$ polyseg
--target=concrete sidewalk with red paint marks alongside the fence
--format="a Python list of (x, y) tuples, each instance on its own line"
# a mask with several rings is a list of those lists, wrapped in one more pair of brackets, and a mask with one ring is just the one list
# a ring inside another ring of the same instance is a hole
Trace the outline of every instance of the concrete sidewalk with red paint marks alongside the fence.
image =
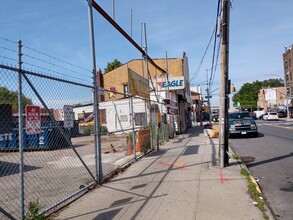
[(54, 219), (263, 219), (240, 166), (218, 166), (218, 139), (193, 127)]

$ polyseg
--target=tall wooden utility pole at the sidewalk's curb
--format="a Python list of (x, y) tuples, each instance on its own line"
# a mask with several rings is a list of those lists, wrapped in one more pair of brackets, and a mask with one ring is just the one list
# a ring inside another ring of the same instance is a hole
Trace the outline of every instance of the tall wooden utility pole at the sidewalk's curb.
[(221, 81), (220, 81), (220, 166), (229, 165), (228, 146), (228, 79), (229, 79), (229, 22), (230, 0), (222, 3), (222, 45), (221, 45)]

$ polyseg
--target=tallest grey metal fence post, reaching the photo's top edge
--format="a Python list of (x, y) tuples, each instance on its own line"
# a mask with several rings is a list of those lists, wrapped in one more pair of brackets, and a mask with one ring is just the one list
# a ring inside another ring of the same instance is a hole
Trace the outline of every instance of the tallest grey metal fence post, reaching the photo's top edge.
[(97, 71), (96, 71), (96, 55), (95, 55), (95, 40), (94, 40), (94, 25), (93, 25), (93, 10), (92, 0), (88, 0), (88, 16), (91, 42), (91, 57), (93, 69), (93, 99), (94, 99), (94, 123), (95, 123), (95, 149), (96, 149), (96, 173), (99, 184), (103, 183), (103, 169), (102, 169), (102, 154), (101, 154), (101, 138), (100, 138), (100, 115), (98, 103), (98, 85), (97, 85)]

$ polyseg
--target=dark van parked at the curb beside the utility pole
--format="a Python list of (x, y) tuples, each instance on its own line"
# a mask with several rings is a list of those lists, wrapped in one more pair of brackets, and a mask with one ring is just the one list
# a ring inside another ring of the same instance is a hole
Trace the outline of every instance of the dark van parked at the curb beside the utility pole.
[(249, 112), (229, 113), (229, 136), (233, 135), (258, 136), (256, 122), (252, 119)]

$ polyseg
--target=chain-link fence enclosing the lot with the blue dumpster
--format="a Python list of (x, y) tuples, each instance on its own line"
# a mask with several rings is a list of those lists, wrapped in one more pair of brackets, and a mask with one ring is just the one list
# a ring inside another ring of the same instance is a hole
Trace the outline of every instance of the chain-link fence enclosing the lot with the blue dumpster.
[(19, 55), (0, 65), (0, 218), (47, 214), (169, 139), (165, 105), (130, 93), (99, 103), (97, 132), (91, 83), (28, 71), (21, 58), (35, 57)]

